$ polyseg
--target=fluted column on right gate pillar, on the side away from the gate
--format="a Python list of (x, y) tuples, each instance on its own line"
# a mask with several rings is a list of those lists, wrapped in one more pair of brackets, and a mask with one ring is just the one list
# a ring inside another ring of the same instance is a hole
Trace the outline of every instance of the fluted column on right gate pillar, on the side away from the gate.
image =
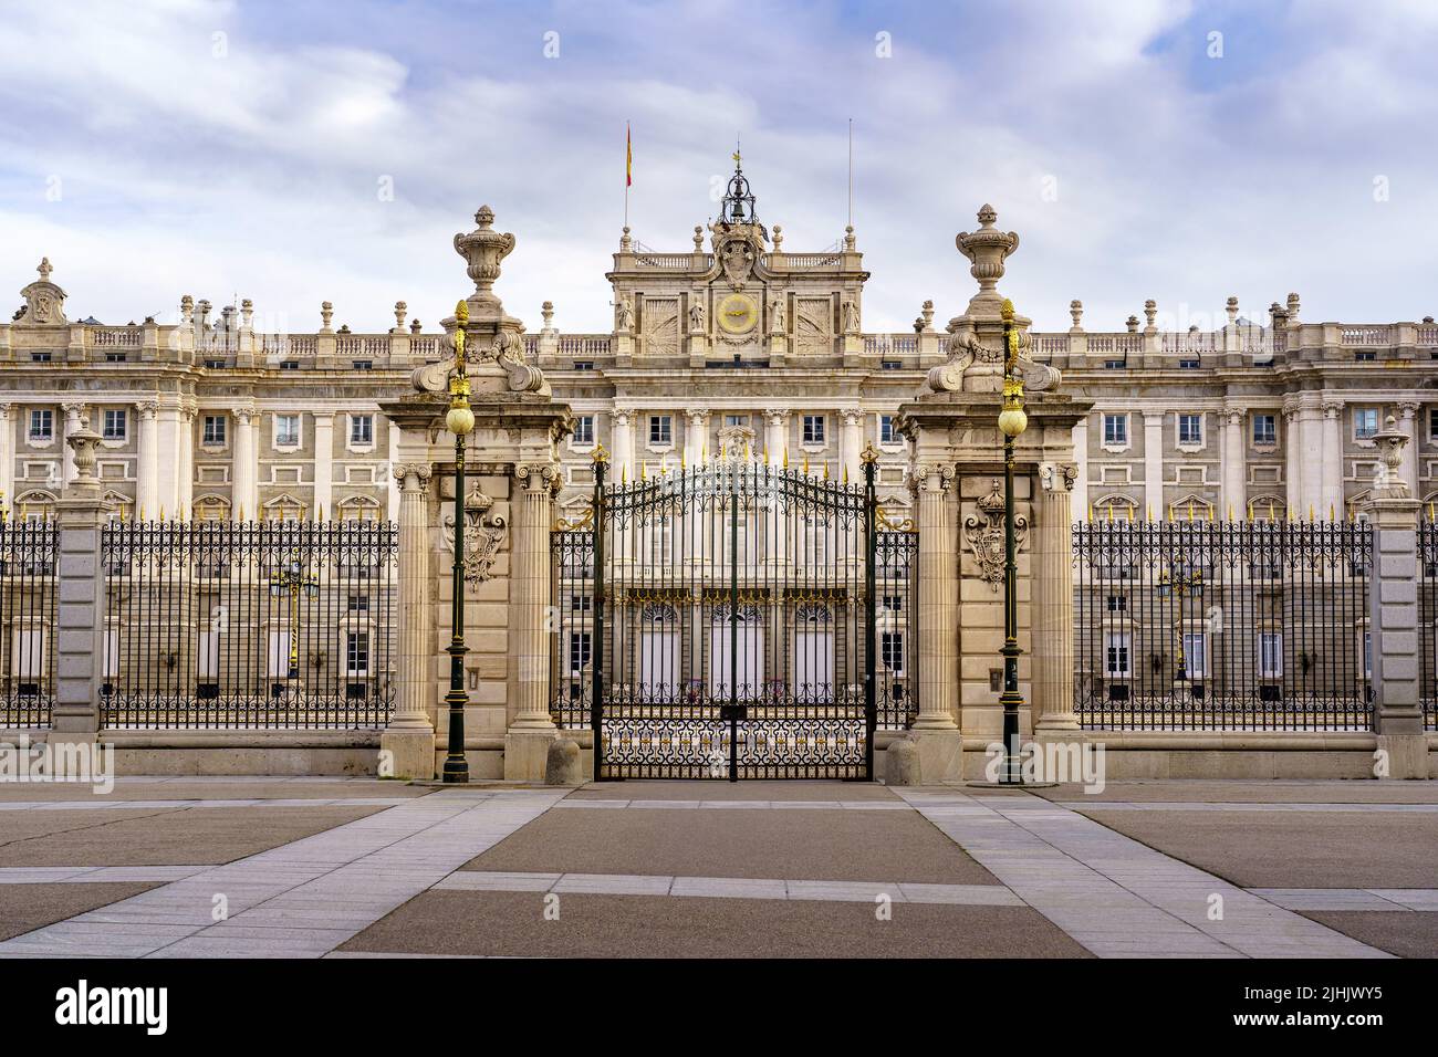
[(1077, 731), (1074, 715), (1074, 572), (1070, 489), (1078, 467), (1038, 465), (1032, 526), (1034, 731)]

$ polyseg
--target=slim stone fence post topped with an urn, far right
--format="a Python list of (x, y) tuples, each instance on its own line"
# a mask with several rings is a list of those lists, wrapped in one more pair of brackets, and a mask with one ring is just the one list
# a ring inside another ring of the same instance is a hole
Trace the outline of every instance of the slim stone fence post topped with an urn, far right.
[(1428, 739), (1418, 670), (1419, 502), (1399, 476), (1408, 437), (1392, 416), (1375, 441), (1383, 456), (1368, 503), (1373, 526), (1368, 628), (1373, 731), (1380, 754), (1376, 777), (1426, 778)]

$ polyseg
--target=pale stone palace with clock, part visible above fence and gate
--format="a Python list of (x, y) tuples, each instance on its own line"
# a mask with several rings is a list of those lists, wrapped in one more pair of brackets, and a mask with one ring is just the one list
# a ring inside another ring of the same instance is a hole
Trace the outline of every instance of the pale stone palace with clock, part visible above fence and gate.
[[(853, 227), (827, 250), (791, 252), (779, 224), (759, 221), (742, 171), (722, 209), (722, 220), (758, 226), (765, 252), (703, 224), (687, 250), (654, 252), (626, 229), (605, 275), (613, 331), (567, 334), (545, 302), (525, 335), (575, 414), (561, 515), (587, 503), (597, 444), (613, 480), (742, 447), (850, 482), (873, 444), (880, 499), (902, 516), (909, 454), (894, 411), (949, 358), (935, 302), (922, 302), (910, 332), (869, 332), (870, 273)], [(994, 210), (979, 221), (994, 230)], [(52, 263), (37, 270), (0, 324), (0, 493), (12, 516), (46, 516), (75, 473), (66, 436), (88, 418), (121, 518), (397, 518), (398, 437), (378, 404), (443, 354), (406, 302), (384, 334), (336, 328), (329, 302), (315, 332), (263, 334), (250, 301), (216, 309), (190, 295), (174, 322), (101, 322), (70, 319)], [(741, 273), (735, 289), (728, 276)], [(431, 290), (426, 303), (437, 311), (452, 295)], [(1350, 516), (1388, 416), (1409, 436), (1409, 493), (1425, 511), (1438, 498), (1432, 316), (1309, 322), (1297, 293), (1265, 324), (1229, 298), (1215, 331), (1159, 331), (1153, 301), (1117, 331), (1087, 329), (1078, 301), (1070, 314), (1068, 331), (1031, 339), (1067, 393), (1094, 401), (1074, 430), (1076, 518)]]

